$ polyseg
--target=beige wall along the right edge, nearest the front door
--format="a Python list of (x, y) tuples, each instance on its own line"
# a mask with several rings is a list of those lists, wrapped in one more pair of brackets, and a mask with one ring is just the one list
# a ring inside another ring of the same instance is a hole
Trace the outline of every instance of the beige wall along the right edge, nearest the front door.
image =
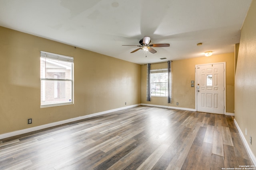
[[(235, 77), (235, 119), (256, 155), (256, 0), (241, 30)], [(247, 135), (245, 135), (247, 129)], [(249, 142), (252, 136), (252, 145)]]

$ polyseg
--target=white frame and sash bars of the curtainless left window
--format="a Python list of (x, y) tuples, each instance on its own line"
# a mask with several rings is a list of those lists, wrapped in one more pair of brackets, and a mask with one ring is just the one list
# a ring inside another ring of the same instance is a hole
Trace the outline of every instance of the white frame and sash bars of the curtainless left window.
[[(46, 78), (46, 69), (47, 69), (47, 67), (46, 67), (46, 60), (47, 59), (48, 59), (48, 61), (50, 59), (50, 60), (64, 61), (64, 62), (71, 63), (70, 64), (70, 67), (71, 67), (70, 68), (70, 70), (71, 70), (71, 74), (70, 74), (71, 77), (70, 77), (70, 79)], [(44, 62), (45, 62), (45, 66), (44, 67), (42, 67), (42, 65), (41, 65), (41, 60), (44, 60)], [(40, 108), (74, 104), (74, 58), (73, 57), (64, 56), (64, 55), (49, 53), (49, 52), (45, 52), (45, 51), (40, 51), (40, 71), (41, 71), (42, 68), (45, 69), (45, 71), (44, 71), (45, 73), (44, 73), (44, 78), (41, 77), (42, 75), (40, 73)], [(70, 100), (71, 101), (70, 102), (63, 101), (63, 102), (56, 103), (56, 104), (43, 104), (42, 105), (42, 102), (43, 102), (43, 100), (42, 100), (42, 81), (44, 81), (44, 80), (45, 81), (57, 81), (57, 82), (58, 81), (70, 82), (70, 84), (71, 84), (71, 88), (70, 88), (71, 99)]]

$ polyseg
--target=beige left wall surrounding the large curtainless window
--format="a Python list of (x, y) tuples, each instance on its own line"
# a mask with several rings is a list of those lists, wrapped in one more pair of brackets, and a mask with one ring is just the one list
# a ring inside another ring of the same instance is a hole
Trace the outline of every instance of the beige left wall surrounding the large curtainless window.
[[(0, 37), (0, 134), (141, 103), (139, 64), (4, 27)], [(40, 108), (40, 51), (74, 57), (74, 104)]]

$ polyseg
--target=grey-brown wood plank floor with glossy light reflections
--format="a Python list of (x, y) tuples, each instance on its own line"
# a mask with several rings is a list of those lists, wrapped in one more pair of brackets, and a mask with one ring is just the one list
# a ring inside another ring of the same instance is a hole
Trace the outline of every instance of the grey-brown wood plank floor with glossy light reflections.
[(138, 106), (0, 140), (0, 169), (221, 170), (252, 165), (233, 117)]

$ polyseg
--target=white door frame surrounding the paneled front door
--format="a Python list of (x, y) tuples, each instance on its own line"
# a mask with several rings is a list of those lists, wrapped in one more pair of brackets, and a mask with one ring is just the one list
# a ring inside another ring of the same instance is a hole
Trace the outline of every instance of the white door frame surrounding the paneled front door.
[[(226, 62), (220, 62), (220, 63), (207, 63), (207, 64), (196, 64), (195, 65), (195, 108), (196, 108), (196, 111), (197, 111), (197, 88), (196, 88), (196, 85), (197, 85), (197, 67), (198, 66), (204, 66), (204, 65), (210, 65), (210, 64), (224, 64), (224, 115), (226, 115)], [(216, 113), (218, 114), (218, 113)]]

